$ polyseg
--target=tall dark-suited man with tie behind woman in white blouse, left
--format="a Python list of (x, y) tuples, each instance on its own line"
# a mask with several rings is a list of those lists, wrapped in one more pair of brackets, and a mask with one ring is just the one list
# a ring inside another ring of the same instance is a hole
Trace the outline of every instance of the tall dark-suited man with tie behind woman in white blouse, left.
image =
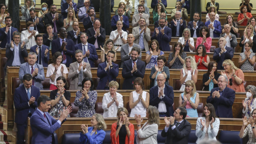
[(68, 39), (67, 30), (61, 27), (59, 30), (60, 37), (52, 41), (52, 55), (55, 52), (62, 53), (62, 63), (69, 67), (70, 63), (73, 62), (71, 57), (75, 55), (74, 42), (72, 39)]

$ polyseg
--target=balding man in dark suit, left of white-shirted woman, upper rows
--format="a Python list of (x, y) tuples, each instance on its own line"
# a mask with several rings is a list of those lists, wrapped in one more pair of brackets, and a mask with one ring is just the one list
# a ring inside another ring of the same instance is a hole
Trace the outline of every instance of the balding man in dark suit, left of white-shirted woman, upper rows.
[(100, 26), (100, 20), (94, 20), (93, 27), (86, 30), (87, 41), (94, 44), (96, 50), (100, 50), (100, 46), (103, 47), (106, 39), (106, 31)]

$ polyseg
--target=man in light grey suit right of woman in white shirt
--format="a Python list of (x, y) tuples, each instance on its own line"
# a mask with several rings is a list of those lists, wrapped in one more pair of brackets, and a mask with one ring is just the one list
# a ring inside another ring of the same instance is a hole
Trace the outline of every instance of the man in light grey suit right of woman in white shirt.
[(141, 51), (148, 51), (148, 41), (150, 40), (150, 29), (146, 26), (146, 20), (140, 18), (140, 25), (132, 28), (135, 44), (140, 45)]

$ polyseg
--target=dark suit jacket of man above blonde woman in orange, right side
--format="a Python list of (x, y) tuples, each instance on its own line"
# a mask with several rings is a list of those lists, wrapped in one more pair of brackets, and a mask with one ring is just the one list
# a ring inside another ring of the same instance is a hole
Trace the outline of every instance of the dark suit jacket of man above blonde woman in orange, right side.
[(213, 60), (215, 60), (218, 63), (217, 69), (221, 70), (224, 69), (222, 66), (222, 62), (227, 60), (227, 59), (232, 59), (234, 56), (234, 49), (231, 47), (226, 46), (226, 53), (222, 53), (221, 55), (219, 54), (221, 52), (221, 48), (218, 47), (217, 49), (214, 50), (213, 53)]

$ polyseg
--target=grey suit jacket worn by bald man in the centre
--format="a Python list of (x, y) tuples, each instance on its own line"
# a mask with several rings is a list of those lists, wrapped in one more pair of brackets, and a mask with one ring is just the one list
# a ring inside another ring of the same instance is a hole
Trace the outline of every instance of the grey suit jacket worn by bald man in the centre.
[[(140, 48), (140, 45), (138, 44), (134, 44), (133, 43), (133, 47), (139, 47)], [(122, 60), (122, 63), (121, 63), (121, 68), (123, 68), (123, 65), (124, 65), (124, 61), (126, 60), (130, 60), (130, 55), (129, 55), (129, 44), (124, 44), (122, 45), (121, 47), (121, 60)], [(138, 59), (141, 60), (141, 51), (140, 51), (140, 55), (138, 57)]]

